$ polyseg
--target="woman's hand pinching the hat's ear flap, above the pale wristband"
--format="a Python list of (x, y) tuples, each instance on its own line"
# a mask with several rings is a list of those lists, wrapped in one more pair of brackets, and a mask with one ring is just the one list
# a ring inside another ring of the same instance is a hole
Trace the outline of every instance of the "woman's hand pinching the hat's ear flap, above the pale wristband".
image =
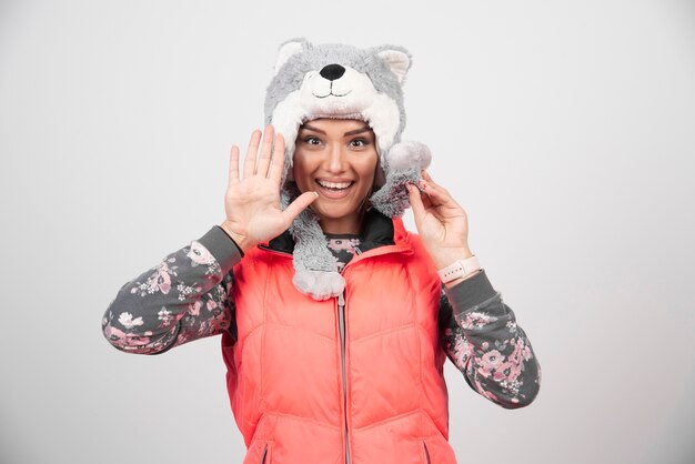
[(449, 191), (436, 184), (427, 171), (422, 171), (421, 192), (407, 184), (415, 226), (422, 242), (437, 269), (456, 260), (471, 258), (469, 248), (469, 219), (465, 211), (454, 201)]

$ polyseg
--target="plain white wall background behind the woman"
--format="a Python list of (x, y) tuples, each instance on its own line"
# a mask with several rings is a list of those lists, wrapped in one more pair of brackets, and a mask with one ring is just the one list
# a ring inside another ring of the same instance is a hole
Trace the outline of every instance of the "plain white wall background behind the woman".
[[(280, 42), (414, 56), (407, 139), (543, 367), (447, 364), (462, 463), (695, 460), (695, 2), (0, 3), (0, 461), (239, 463), (219, 339), (127, 355), (118, 289), (223, 220)], [(412, 221), (409, 222), (412, 225)]]

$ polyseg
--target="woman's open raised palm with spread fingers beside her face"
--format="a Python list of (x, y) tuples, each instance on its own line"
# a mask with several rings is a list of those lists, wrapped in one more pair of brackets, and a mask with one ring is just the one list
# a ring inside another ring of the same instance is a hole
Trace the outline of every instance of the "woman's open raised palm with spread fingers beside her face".
[(256, 160), (261, 131), (253, 131), (243, 163), (243, 179), (239, 176), (239, 147), (233, 145), (230, 153), (229, 184), (224, 195), (226, 219), (220, 226), (244, 252), (289, 229), (294, 218), (318, 196), (315, 192), (304, 192), (284, 211), (280, 209), (284, 139), (281, 134), (273, 138), (273, 127), (265, 125)]

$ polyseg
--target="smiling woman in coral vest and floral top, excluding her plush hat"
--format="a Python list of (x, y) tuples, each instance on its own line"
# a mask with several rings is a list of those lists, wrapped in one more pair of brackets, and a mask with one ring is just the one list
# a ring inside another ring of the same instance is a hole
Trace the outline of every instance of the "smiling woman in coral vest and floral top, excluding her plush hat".
[[(244, 463), (455, 463), (447, 356), (503, 407), (538, 392), (535, 354), (485, 271), (452, 268), (475, 262), (465, 211), (426, 171), (405, 186), (419, 234), (372, 208), (389, 185), (384, 145), (377, 118), (350, 111), (303, 117), (291, 150), (272, 124), (254, 131), (241, 173), (233, 147), (225, 220), (125, 283), (103, 319), (130, 353), (222, 334)], [(344, 282), (335, 296), (296, 282), (302, 214)]]

